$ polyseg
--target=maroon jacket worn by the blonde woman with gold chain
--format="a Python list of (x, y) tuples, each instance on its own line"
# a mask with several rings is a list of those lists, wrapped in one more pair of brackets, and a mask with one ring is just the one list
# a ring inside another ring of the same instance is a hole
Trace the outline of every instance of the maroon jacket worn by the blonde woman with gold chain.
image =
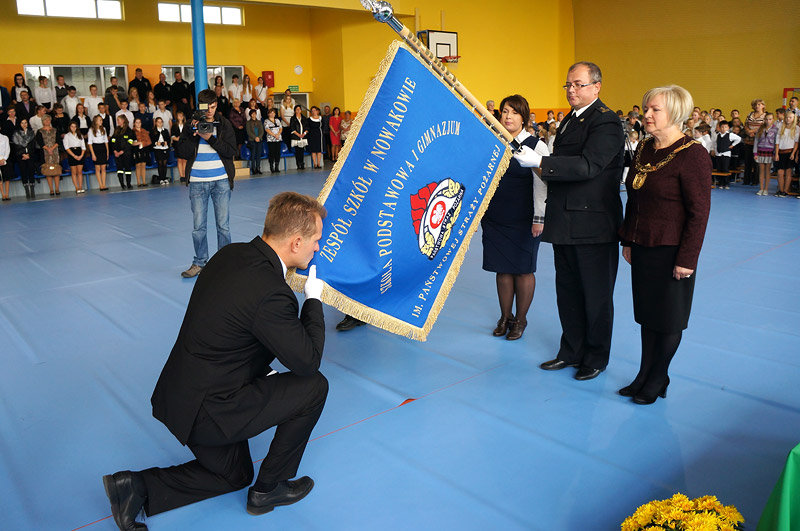
[[(655, 166), (694, 141), (684, 137), (658, 151), (653, 149), (652, 139), (644, 142), (640, 164)], [(631, 167), (625, 179), (625, 219), (619, 230), (622, 245), (677, 245), (675, 265), (697, 269), (711, 208), (711, 158), (706, 149), (699, 143), (683, 149), (661, 169), (650, 172), (638, 190), (633, 188), (635, 176), (636, 169)]]

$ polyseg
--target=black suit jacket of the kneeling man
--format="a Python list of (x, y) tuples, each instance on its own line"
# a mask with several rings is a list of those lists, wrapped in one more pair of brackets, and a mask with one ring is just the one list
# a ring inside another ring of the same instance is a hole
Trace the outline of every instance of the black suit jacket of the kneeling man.
[(220, 249), (197, 277), (178, 339), (156, 384), (153, 416), (186, 444), (201, 405), (233, 437), (267, 406), (277, 358), (300, 376), (319, 370), (322, 303), (298, 303), (280, 259), (260, 237)]

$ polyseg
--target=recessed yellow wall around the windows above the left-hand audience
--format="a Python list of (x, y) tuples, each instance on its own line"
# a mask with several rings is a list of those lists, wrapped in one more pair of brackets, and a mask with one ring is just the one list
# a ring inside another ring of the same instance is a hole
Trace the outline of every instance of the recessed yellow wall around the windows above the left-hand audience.
[[(155, 0), (123, 0), (124, 21), (4, 15), (0, 35), (7, 46), (0, 59), (0, 84), (10, 86), (23, 64), (127, 64), (133, 77), (142, 65), (145, 76), (157, 82), (160, 65), (193, 63), (189, 24), (158, 22)], [(309, 8), (241, 4), (244, 26), (206, 25), (206, 58), (210, 65), (245, 65), (258, 76), (275, 71), (276, 89), (300, 85), (312, 91)], [(0, 12), (16, 13), (15, 0), (0, 0)], [(76, 28), (78, 26), (78, 28)], [(61, 35), (81, 36), (81, 46)], [(50, 35), (51, 38), (31, 36)], [(88, 41), (87, 41), (88, 39)], [(95, 39), (91, 52), (83, 43)], [(24, 45), (22, 45), (24, 43)], [(149, 66), (147, 66), (149, 65)], [(304, 72), (294, 73), (295, 65)], [(169, 80), (172, 81), (172, 80)], [(255, 78), (253, 78), (255, 82)]]

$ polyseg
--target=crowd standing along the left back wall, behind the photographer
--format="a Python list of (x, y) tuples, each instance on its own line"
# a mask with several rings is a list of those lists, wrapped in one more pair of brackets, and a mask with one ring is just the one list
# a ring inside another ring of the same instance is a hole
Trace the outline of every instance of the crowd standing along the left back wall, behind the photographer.
[[(306, 109), (286, 90), (275, 104), (269, 87), (261, 77), (253, 86), (245, 75), (241, 83), (234, 75), (229, 86), (222, 76), (211, 87), (217, 94), (218, 111), (230, 120), (236, 133), (238, 152), (247, 146), (250, 173), (262, 174), (261, 158), (266, 152), (270, 172), (279, 172), (281, 152), (291, 148), (296, 167), (305, 169), (305, 153), (311, 153), (314, 168), (322, 168), (323, 153), (332, 161), (347, 140), (352, 116), (338, 107), (326, 105)], [(137, 68), (128, 88), (116, 77), (104, 95), (96, 85), (81, 97), (63, 76), (51, 86), (39, 76), (31, 89), (18, 73), (10, 90), (0, 87), (0, 192), (9, 200), (10, 181), (20, 177), (27, 198), (35, 198), (36, 175), (47, 179), (51, 196), (61, 194), (62, 161), (67, 160), (75, 191), (86, 191), (83, 167), (88, 159), (94, 165), (99, 189), (108, 190), (106, 170), (113, 160), (120, 187), (131, 189), (132, 176), (137, 187), (168, 185), (167, 167), (174, 153), (181, 182), (184, 182), (188, 143), (195, 110), (194, 83), (187, 83), (180, 72), (172, 84), (166, 76), (151, 85)], [(264, 148), (266, 144), (266, 149)], [(282, 144), (286, 147), (282, 148)], [(157, 173), (148, 182), (146, 172), (154, 159)]]

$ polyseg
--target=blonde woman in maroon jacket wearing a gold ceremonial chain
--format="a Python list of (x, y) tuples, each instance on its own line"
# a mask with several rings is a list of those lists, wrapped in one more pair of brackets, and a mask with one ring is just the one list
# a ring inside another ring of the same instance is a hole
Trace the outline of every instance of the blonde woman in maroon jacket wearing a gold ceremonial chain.
[(689, 323), (711, 206), (711, 159), (681, 131), (692, 109), (686, 89), (650, 89), (642, 108), (650, 136), (639, 144), (625, 180), (628, 202), (619, 229), (642, 354), (639, 373), (618, 392), (652, 404), (667, 397), (669, 365)]

